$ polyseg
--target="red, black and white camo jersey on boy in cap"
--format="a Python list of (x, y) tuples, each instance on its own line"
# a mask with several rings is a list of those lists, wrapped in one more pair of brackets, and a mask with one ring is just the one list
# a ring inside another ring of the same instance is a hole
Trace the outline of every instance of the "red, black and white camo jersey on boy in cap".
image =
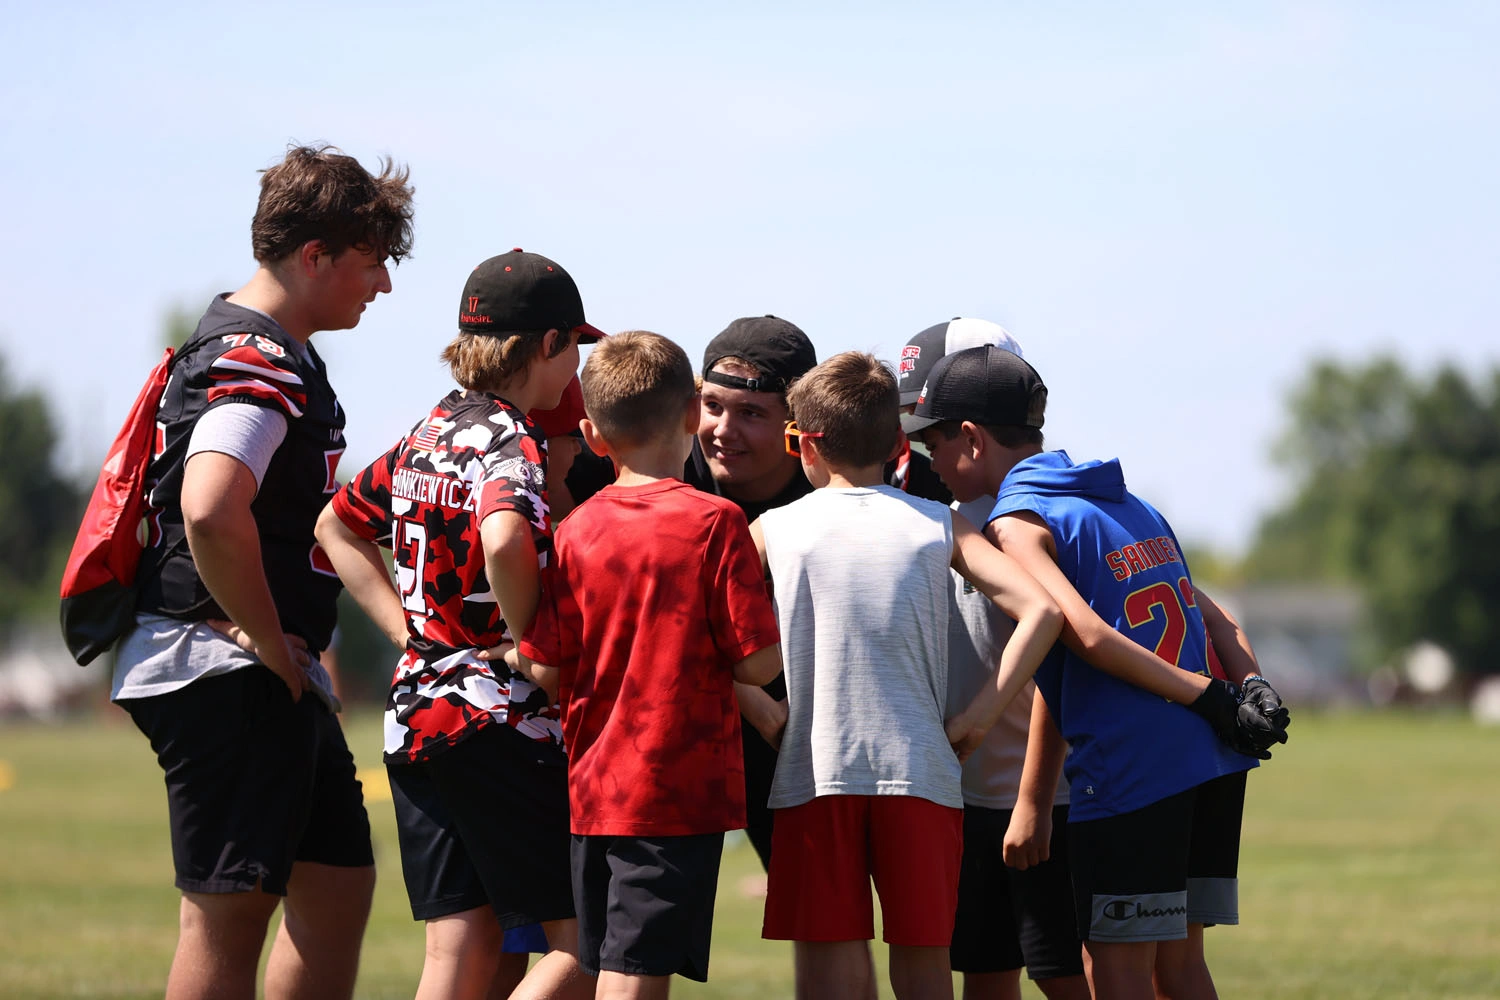
[(333, 498), (351, 531), (394, 550), (406, 652), (386, 703), (387, 760), (423, 760), (490, 723), (555, 745), (556, 705), (530, 679), (476, 654), (506, 637), (478, 526), (501, 510), (550, 552), (546, 438), (489, 393), (448, 393)]

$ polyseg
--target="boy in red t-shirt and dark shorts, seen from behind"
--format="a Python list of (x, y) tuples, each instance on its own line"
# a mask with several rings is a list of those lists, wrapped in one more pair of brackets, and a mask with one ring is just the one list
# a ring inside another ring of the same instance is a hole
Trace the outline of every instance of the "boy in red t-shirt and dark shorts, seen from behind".
[(746, 825), (734, 682), (782, 670), (744, 514), (680, 478), (693, 366), (654, 333), (609, 337), (582, 373), (584, 438), (618, 478), (558, 526), (518, 666), (560, 691), (579, 958), (598, 997), (708, 979), (724, 831)]

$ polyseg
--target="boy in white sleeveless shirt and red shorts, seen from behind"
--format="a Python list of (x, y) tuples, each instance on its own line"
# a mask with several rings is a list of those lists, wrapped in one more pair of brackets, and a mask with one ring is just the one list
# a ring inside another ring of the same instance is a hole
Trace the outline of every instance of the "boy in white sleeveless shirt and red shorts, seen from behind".
[[(960, 760), (1041, 663), (1060, 613), (946, 505), (885, 483), (900, 426), (880, 361), (838, 354), (789, 402), (788, 447), (816, 489), (752, 526), (789, 691), (764, 934), (795, 942), (800, 997), (873, 996), (873, 877), (896, 996), (951, 997)], [(950, 568), (1017, 624), (993, 681), (945, 724)]]

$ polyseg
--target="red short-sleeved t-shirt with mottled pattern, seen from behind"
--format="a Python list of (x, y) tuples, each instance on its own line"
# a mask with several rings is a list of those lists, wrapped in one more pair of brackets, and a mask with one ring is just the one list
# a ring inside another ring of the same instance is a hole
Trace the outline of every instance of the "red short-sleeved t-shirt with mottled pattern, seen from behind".
[(730, 667), (778, 640), (732, 502), (660, 480), (606, 486), (564, 520), (520, 649), (561, 670), (573, 832), (744, 826)]

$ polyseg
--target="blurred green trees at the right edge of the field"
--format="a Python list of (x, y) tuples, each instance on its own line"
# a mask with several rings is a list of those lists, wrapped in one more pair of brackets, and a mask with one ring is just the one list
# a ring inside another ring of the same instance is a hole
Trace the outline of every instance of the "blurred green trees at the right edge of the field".
[(1262, 522), (1246, 579), (1347, 583), (1377, 652), (1430, 640), (1462, 672), (1500, 672), (1500, 369), (1318, 361), (1276, 457), (1294, 490)]

